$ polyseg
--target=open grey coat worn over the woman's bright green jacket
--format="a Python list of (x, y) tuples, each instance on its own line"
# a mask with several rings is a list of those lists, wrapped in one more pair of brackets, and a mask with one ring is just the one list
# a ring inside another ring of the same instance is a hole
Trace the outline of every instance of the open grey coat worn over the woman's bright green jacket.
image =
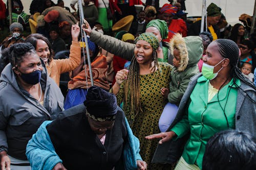
[[(172, 129), (175, 124), (177, 124), (187, 109), (189, 105), (189, 96), (193, 91), (194, 87), (197, 84), (197, 79), (201, 77), (202, 74), (196, 75), (191, 78), (191, 81), (188, 83), (188, 87), (181, 99), (178, 113), (174, 119), (174, 122), (168, 129)], [(243, 90), (244, 91), (243, 91)], [(236, 116), (235, 116), (235, 128), (240, 131), (247, 131), (256, 137), (256, 105), (248, 99), (248, 96), (252, 100), (256, 100), (255, 89), (246, 85), (241, 81), (241, 86), (238, 88), (237, 96), (237, 106), (236, 106)], [(180, 138), (176, 141), (169, 140), (163, 144), (158, 144), (156, 152), (154, 154), (152, 162), (154, 163), (174, 163), (176, 162), (183, 151), (184, 144), (187, 136)]]

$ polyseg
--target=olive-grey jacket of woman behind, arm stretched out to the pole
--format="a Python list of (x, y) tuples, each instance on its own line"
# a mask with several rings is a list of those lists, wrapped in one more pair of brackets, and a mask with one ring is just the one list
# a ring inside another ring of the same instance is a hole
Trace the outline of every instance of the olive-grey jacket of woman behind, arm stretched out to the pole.
[[(103, 35), (95, 30), (90, 34), (90, 40), (101, 46), (104, 50), (117, 55), (125, 60), (131, 61), (134, 56), (135, 44), (123, 42), (117, 38)], [(168, 49), (168, 63), (173, 63), (173, 55)]]

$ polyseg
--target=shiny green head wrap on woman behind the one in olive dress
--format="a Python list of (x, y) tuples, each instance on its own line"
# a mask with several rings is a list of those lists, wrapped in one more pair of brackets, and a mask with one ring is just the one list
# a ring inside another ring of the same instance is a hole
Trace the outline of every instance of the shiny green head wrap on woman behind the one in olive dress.
[(168, 26), (167, 23), (164, 20), (160, 19), (153, 19), (150, 22), (148, 22), (146, 29), (148, 27), (155, 27), (159, 30), (162, 39), (166, 39), (168, 35)]

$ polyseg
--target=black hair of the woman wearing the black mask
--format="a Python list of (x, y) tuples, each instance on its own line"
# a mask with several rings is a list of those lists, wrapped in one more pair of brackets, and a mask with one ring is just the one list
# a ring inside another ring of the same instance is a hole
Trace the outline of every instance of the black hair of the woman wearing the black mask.
[(25, 54), (35, 53), (35, 48), (29, 42), (15, 43), (10, 47), (10, 62), (12, 66), (19, 65), (23, 61)]

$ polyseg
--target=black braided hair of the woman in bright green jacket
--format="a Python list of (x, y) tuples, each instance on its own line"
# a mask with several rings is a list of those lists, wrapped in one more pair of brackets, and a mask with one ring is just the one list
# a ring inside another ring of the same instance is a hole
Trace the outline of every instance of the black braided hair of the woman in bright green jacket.
[[(238, 45), (229, 39), (217, 39), (214, 41), (217, 43), (218, 48), (219, 48), (219, 53), (221, 54), (222, 57), (228, 58), (229, 59), (229, 64), (230, 64), (230, 76), (233, 78), (233, 84), (237, 87), (240, 88), (236, 80), (239, 79), (240, 81), (244, 82), (246, 85), (252, 87), (253, 89), (256, 90), (255, 86), (252, 84), (252, 82), (249, 81), (249, 79), (245, 78), (241, 72), (241, 70), (238, 68), (238, 62), (239, 62), (239, 47)], [(244, 91), (243, 89), (241, 89)], [(248, 96), (249, 100), (255, 103), (253, 99)]]

